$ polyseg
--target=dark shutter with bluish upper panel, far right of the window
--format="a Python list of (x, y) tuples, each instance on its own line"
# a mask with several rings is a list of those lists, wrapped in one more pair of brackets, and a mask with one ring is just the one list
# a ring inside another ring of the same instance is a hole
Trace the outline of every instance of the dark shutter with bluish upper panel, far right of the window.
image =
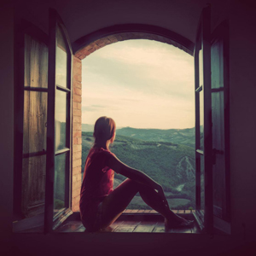
[(230, 233), (229, 28), (212, 33), (212, 177), (214, 226)]

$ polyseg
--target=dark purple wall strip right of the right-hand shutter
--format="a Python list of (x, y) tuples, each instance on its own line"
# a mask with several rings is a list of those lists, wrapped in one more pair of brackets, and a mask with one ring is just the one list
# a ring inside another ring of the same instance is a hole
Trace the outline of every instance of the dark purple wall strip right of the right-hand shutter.
[(256, 8), (230, 6), (231, 230), (255, 236), (256, 229)]

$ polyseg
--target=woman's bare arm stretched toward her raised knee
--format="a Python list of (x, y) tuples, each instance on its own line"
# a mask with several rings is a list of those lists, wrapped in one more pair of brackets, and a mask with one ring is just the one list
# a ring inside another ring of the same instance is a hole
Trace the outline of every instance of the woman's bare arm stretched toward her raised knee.
[(117, 157), (113, 155), (108, 159), (108, 167), (111, 168), (113, 171), (118, 172), (125, 177), (129, 177), (132, 180), (137, 181), (138, 183), (143, 183), (150, 188), (157, 190), (161, 188), (160, 184), (156, 183), (154, 179), (149, 177), (146, 173), (131, 168), (130, 166), (126, 166), (123, 162), (121, 162)]

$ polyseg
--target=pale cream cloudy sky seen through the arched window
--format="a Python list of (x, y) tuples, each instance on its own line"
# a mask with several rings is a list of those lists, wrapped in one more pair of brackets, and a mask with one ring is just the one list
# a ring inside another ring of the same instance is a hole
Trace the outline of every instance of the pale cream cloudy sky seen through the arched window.
[(96, 50), (82, 68), (83, 124), (106, 115), (118, 127), (195, 126), (194, 58), (183, 50), (127, 40)]

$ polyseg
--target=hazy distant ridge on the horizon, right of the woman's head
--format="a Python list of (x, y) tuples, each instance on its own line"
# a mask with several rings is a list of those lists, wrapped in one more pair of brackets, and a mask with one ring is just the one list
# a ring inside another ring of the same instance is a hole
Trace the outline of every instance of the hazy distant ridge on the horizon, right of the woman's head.
[(195, 148), (195, 128), (161, 130), (125, 127), (117, 130), (116, 134), (144, 141), (177, 143)]

